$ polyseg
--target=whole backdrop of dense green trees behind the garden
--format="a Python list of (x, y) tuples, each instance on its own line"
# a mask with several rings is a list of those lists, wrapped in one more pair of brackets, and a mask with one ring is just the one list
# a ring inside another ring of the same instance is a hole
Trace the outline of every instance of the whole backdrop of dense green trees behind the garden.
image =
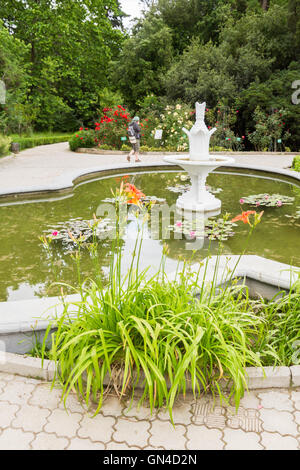
[(3, 0), (0, 133), (94, 129), (117, 105), (159, 126), (205, 100), (214, 145), (299, 150), (300, 0), (141, 2), (129, 34), (118, 0)]

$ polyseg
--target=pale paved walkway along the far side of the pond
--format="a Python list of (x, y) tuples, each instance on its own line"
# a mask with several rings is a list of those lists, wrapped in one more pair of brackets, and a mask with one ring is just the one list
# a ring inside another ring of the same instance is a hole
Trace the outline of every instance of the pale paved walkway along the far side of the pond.
[[(234, 158), (238, 164), (277, 169), (288, 168), (293, 160), (286, 155), (237, 155)], [(144, 155), (142, 161), (149, 165), (161, 164), (163, 156)], [(78, 154), (69, 150), (68, 143), (35, 147), (16, 157), (0, 159), (0, 195), (71, 187), (72, 181), (82, 173), (120, 165), (128, 166), (124, 155)]]

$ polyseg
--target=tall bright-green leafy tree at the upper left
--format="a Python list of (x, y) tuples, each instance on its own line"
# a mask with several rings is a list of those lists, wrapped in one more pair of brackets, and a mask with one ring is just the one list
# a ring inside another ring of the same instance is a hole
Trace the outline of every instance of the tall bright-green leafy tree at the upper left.
[(29, 46), (29, 99), (39, 127), (93, 118), (122, 43), (120, 16), (117, 0), (1, 1), (4, 25)]

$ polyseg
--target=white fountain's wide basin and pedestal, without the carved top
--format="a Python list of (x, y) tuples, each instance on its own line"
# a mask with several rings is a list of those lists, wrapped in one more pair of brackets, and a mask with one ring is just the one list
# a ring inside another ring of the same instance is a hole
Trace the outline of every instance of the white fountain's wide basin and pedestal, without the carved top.
[(221, 201), (206, 189), (206, 179), (219, 166), (234, 163), (231, 157), (211, 155), (206, 160), (191, 160), (189, 157), (171, 155), (164, 158), (167, 163), (181, 166), (191, 177), (192, 187), (177, 199), (179, 211), (204, 213), (206, 217), (218, 215), (221, 211)]

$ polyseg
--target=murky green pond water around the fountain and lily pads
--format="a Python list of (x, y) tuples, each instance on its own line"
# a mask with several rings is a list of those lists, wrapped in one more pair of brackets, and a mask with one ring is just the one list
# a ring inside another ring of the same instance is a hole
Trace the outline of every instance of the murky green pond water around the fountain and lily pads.
[[(163, 198), (169, 205), (176, 202), (179, 185), (184, 172), (161, 171), (139, 172), (128, 174), (127, 181), (135, 184), (147, 196)], [(96, 213), (99, 204), (106, 198), (111, 198), (111, 189), (120, 185), (121, 174), (101, 177), (90, 182), (77, 185), (73, 193), (49, 200), (17, 200), (16, 202), (1, 201), (0, 205), (0, 301), (13, 301), (57, 295), (57, 287), (51, 286), (55, 281), (53, 264), (43, 248), (39, 236), (44, 231), (60, 227), (70, 219), (81, 218), (90, 220)], [(286, 217), (295, 215), (300, 210), (300, 185), (291, 181), (272, 179), (268, 174), (243, 173), (237, 170), (226, 172), (216, 171), (208, 177), (208, 185), (217, 192), (222, 200), (222, 214), (228, 212), (232, 217), (241, 212), (239, 200), (253, 194), (281, 194), (294, 198), (292, 205), (282, 207), (259, 208), (265, 210), (263, 221), (256, 228), (250, 240), (247, 254), (256, 254), (287, 264), (300, 266), (300, 218)], [(168, 188), (173, 188), (170, 190)], [(175, 189), (174, 189), (175, 188)], [(244, 210), (253, 209), (244, 206)], [(239, 223), (235, 227), (235, 236), (224, 241), (223, 251), (226, 254), (239, 254), (245, 246), (248, 226)], [(123, 243), (124, 266), (129, 265), (136, 222), (128, 222), (127, 237)], [(192, 251), (187, 249), (186, 240), (152, 239), (143, 241), (142, 265), (148, 265), (155, 270), (160, 262), (163, 245), (168, 245), (167, 270), (176, 269), (179, 256), (190, 258)], [(198, 250), (194, 258), (201, 260), (207, 256), (209, 241)], [(211, 250), (217, 252), (218, 242), (212, 242)], [(105, 279), (111, 257), (111, 241), (101, 242), (99, 259), (102, 276)], [(53, 260), (52, 260), (53, 262)], [(77, 274), (70, 252), (58, 248), (54, 256), (54, 265), (60, 281), (76, 284)], [(82, 275), (92, 273), (92, 261), (88, 251), (82, 259)]]

